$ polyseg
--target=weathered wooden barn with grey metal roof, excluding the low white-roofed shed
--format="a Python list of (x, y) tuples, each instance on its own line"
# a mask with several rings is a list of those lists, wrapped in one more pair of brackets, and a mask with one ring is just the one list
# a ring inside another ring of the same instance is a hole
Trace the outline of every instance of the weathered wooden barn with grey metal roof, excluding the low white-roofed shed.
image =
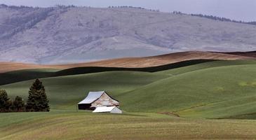
[(119, 101), (110, 97), (105, 91), (89, 92), (83, 101), (79, 102), (81, 110), (94, 110), (100, 106), (119, 106)]

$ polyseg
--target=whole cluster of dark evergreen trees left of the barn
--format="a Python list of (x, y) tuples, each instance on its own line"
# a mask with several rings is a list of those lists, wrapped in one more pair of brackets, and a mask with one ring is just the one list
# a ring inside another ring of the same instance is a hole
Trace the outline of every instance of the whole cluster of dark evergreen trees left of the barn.
[(0, 112), (38, 112), (50, 111), (49, 101), (43, 83), (36, 79), (29, 88), (27, 103), (22, 97), (15, 97), (12, 101), (6, 90), (0, 90)]

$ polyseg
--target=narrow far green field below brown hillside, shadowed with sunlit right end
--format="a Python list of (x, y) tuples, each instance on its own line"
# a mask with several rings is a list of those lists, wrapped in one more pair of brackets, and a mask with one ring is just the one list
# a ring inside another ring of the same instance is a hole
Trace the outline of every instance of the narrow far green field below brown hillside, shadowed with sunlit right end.
[(78, 75), (83, 73), (97, 73), (105, 71), (144, 71), (167, 73), (170, 75), (177, 75), (189, 71), (196, 71), (199, 69), (207, 69), (216, 66), (229, 66), (241, 64), (255, 64), (254, 60), (213, 60), (213, 59), (194, 59), (184, 62), (177, 62), (174, 64), (166, 64), (162, 66), (153, 66), (146, 68), (121, 68), (121, 67), (75, 67), (72, 69), (25, 69), (20, 71), (10, 71), (0, 73), (0, 85), (10, 83), (17, 83), (24, 80), (31, 80), (35, 78), (48, 78), (67, 75)]

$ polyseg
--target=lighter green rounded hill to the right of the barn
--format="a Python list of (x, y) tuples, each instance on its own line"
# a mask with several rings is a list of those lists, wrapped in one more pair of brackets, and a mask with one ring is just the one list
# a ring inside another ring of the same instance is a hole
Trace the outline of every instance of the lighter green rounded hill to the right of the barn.
[(119, 99), (127, 111), (175, 111), (203, 118), (238, 116), (256, 112), (255, 75), (255, 64), (202, 69), (156, 81)]

